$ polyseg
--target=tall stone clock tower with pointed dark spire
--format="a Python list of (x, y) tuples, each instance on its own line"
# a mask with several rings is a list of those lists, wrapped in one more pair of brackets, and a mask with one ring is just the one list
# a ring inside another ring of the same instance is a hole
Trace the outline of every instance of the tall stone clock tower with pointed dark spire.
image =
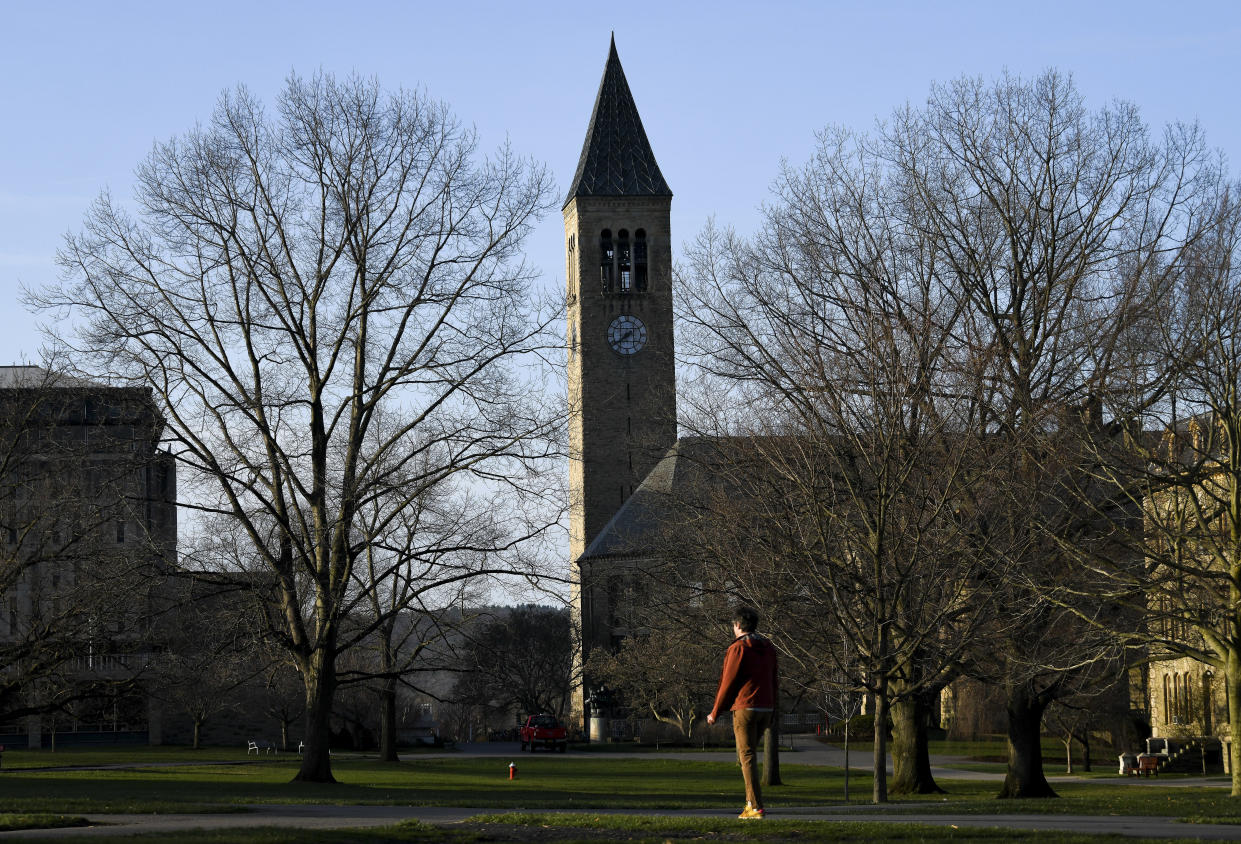
[(578, 557), (676, 441), (671, 200), (613, 38), (563, 207), (570, 552), (583, 658), (611, 644), (611, 632), (593, 612), (603, 572), (580, 570)]

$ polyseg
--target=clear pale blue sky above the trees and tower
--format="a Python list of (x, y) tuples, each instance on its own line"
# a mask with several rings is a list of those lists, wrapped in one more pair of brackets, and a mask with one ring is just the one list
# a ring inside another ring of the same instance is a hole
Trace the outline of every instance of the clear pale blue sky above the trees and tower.
[[(593, 10), (592, 10), (593, 9)], [(290, 71), (422, 87), (573, 176), (617, 47), (673, 187), (674, 237), (709, 216), (745, 231), (782, 158), (828, 124), (869, 129), (933, 81), (1073, 74), (1087, 103), (1198, 120), (1241, 175), (1241, 2), (16, 2), (0, 0), (0, 364), (37, 356), (21, 284), (56, 278), (66, 231), (101, 189), (125, 197), (156, 140), (210, 117), (223, 88), (268, 102)], [(563, 283), (562, 226), (529, 243)]]

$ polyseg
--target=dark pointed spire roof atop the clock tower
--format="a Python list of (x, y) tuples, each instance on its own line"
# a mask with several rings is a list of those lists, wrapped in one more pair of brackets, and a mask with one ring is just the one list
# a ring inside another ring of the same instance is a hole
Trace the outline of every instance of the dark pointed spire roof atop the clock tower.
[(671, 196), (642, 128), (613, 36), (582, 156), (565, 205), (575, 196)]

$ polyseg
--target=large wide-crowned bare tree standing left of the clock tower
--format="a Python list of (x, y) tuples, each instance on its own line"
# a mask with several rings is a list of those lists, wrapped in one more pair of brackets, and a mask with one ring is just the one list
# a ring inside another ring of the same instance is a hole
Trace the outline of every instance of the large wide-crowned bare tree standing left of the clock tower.
[(480, 156), (422, 93), (325, 74), (292, 77), (271, 115), (225, 93), (137, 180), (132, 206), (99, 197), (65, 279), (32, 298), (71, 313), (82, 370), (154, 390), (186, 503), (242, 534), (305, 683), (297, 779), (331, 781), (360, 509), (383, 498), (395, 521), (437, 487), (537, 485), (553, 452), (522, 364), (558, 344), (520, 254), (550, 180), (508, 148)]

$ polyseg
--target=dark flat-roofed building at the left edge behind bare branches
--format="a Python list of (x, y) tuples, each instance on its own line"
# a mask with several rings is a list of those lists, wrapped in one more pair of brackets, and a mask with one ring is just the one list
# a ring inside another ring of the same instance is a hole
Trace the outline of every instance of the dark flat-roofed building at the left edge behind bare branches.
[(158, 738), (130, 681), (176, 555), (163, 424), (145, 390), (0, 367), (0, 743)]

